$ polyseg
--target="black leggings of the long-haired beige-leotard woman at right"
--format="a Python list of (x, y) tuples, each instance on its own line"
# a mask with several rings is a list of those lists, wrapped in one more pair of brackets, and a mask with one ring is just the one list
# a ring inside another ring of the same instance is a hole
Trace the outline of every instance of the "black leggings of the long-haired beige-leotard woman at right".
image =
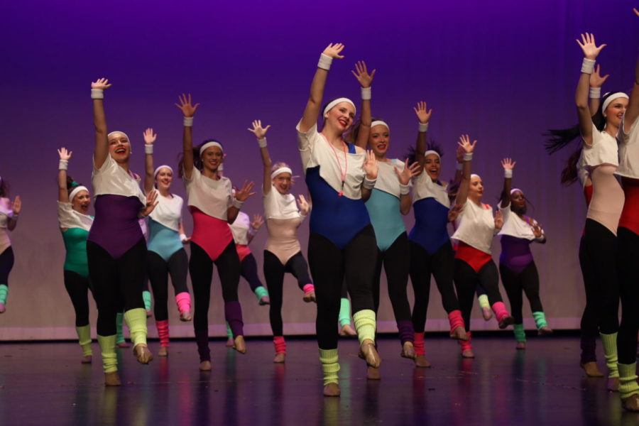
[(606, 226), (593, 219), (586, 219), (584, 246), (586, 261), (591, 264), (594, 272), (591, 293), (599, 312), (599, 332), (616, 333), (619, 329), (617, 237)]

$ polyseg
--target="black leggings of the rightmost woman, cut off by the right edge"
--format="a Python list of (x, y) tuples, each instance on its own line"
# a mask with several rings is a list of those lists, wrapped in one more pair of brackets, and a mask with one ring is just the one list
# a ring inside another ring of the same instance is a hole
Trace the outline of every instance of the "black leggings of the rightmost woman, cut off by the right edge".
[(620, 227), (617, 231), (619, 295), (621, 296), (621, 324), (617, 335), (617, 351), (621, 364), (633, 364), (637, 356), (639, 332), (639, 235)]

